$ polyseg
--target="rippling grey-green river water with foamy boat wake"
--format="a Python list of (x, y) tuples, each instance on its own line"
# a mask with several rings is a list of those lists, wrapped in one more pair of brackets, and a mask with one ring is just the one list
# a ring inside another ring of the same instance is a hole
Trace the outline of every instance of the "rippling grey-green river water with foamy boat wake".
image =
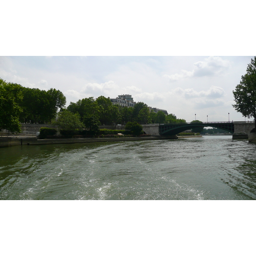
[(232, 136), (0, 148), (1, 200), (252, 200), (256, 144)]

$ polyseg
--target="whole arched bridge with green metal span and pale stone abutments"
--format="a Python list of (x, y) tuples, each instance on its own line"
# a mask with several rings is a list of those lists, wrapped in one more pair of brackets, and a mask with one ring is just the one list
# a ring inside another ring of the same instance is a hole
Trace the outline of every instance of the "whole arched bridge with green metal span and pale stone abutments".
[(255, 131), (254, 122), (184, 122), (142, 125), (146, 134), (155, 136), (175, 136), (180, 132), (198, 127), (215, 127), (233, 134), (233, 138), (248, 138)]

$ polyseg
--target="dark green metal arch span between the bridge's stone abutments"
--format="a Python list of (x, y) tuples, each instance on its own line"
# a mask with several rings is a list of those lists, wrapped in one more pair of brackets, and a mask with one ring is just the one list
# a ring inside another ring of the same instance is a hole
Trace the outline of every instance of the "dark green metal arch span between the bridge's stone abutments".
[(233, 122), (190, 122), (190, 123), (169, 123), (159, 125), (159, 134), (161, 136), (171, 136), (180, 132), (198, 127), (215, 127), (230, 133), (234, 133)]

